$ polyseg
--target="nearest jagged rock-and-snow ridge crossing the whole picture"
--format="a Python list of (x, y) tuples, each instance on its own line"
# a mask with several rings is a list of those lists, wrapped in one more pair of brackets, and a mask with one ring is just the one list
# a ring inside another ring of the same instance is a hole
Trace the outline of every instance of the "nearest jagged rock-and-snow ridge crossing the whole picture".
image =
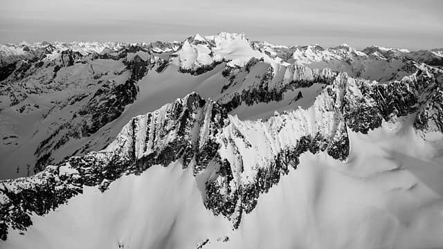
[[(298, 75), (309, 79), (319, 73), (306, 72)], [(226, 216), (237, 228), (261, 194), (296, 169), (301, 154), (325, 151), (346, 160), (347, 129), (368, 133), (383, 122), (419, 114), (415, 129), (424, 138), (430, 132), (441, 134), (441, 89), (441, 71), (428, 66), (390, 84), (338, 73), (308, 109), (265, 121), (239, 120), (222, 104), (190, 93), (132, 118), (102, 151), (67, 158), (35, 176), (1, 181), (1, 239), (7, 238), (9, 229), (26, 230), (32, 225), (30, 214), (50, 212), (82, 193), (82, 186), (106, 191), (120, 176), (177, 160), (204, 183), (206, 208)]]

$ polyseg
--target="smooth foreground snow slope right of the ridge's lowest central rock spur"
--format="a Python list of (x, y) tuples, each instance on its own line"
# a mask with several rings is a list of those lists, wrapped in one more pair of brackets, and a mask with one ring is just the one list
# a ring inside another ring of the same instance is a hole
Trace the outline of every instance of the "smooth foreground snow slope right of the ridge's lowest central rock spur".
[(304, 154), (229, 242), (208, 248), (442, 248), (442, 147), (406, 125), (350, 133), (350, 148), (346, 163)]

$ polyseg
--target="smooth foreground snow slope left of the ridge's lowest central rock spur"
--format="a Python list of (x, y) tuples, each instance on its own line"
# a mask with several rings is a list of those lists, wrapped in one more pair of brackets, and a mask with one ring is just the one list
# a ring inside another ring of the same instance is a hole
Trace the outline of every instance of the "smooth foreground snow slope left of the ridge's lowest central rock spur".
[(1, 248), (196, 248), (230, 230), (204, 208), (192, 170), (181, 163), (125, 176), (105, 193), (84, 194), (48, 216), (35, 216), (26, 236), (12, 232)]

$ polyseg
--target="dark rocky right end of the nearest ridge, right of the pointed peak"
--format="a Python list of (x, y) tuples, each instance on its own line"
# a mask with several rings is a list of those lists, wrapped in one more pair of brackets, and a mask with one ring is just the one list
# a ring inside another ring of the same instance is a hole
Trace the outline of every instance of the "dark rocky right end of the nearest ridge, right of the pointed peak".
[[(434, 106), (435, 104), (431, 107), (428, 104), (430, 100), (439, 98), (439, 74), (437, 69), (422, 66), (414, 75), (390, 84), (365, 84), (361, 80), (347, 80), (353, 89), (352, 96), (345, 95), (344, 116), (348, 127), (353, 131), (368, 133), (369, 130), (380, 127), (382, 122), (417, 113), (424, 107), (438, 110), (439, 107)], [(418, 123), (422, 120), (420, 116), (426, 116), (424, 111), (421, 113), (417, 119)]]

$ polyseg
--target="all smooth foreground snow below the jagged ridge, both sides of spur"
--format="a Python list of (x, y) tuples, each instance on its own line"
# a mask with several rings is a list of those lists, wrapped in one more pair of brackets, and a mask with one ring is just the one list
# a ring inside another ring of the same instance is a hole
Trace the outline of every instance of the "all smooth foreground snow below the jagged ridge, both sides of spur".
[[(302, 154), (237, 230), (204, 209), (181, 163), (124, 176), (105, 193), (87, 187), (57, 211), (33, 217), (4, 248), (441, 248), (442, 144), (410, 118), (350, 132), (350, 156)], [(435, 181), (435, 179), (439, 181)], [(93, 207), (93, 208), (92, 208)]]

